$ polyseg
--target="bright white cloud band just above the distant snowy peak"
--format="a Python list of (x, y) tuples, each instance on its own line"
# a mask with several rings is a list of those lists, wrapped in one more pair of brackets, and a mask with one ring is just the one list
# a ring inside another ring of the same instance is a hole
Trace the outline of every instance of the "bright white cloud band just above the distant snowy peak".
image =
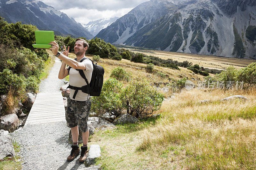
[(79, 9), (78, 7), (76, 7), (76, 8), (70, 8), (70, 9), (60, 10), (60, 11), (66, 13), (69, 17), (74, 18), (76, 22), (87, 24), (92, 20), (122, 17), (123, 15), (125, 15), (131, 10), (132, 8), (122, 8), (116, 11), (114, 10), (98, 11), (96, 9), (87, 10), (87, 9)]

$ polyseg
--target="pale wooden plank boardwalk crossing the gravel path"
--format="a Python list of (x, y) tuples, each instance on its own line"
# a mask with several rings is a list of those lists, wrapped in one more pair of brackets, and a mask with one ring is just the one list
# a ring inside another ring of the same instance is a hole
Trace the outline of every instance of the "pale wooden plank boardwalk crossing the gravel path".
[(39, 92), (24, 126), (62, 121), (66, 119), (61, 92)]

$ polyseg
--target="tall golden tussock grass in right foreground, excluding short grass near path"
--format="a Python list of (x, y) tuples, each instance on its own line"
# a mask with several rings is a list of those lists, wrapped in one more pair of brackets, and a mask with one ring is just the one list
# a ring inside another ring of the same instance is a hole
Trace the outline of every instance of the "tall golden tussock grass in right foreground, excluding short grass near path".
[[(139, 152), (163, 152), (176, 160), (178, 169), (254, 169), (256, 167), (256, 96), (249, 91), (182, 91), (167, 100), (163, 114), (152, 129), (143, 131)], [(249, 99), (220, 101), (242, 94)], [(211, 102), (202, 104), (201, 100)], [(156, 135), (157, 134), (157, 135)], [(175, 154), (166, 148), (182, 146)]]

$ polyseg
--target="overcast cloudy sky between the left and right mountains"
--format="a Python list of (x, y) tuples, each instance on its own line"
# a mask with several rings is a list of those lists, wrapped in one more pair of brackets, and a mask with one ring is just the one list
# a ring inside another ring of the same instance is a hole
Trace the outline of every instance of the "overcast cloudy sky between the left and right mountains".
[(149, 0), (40, 0), (58, 11), (66, 13), (76, 22), (122, 17), (134, 7)]

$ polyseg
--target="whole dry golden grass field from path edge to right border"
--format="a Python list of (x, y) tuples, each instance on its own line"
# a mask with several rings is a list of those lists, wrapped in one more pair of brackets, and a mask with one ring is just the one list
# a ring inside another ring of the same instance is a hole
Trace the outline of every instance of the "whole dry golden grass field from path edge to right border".
[[(161, 118), (99, 130), (89, 145), (100, 144), (103, 169), (255, 169), (255, 90), (183, 90)], [(220, 101), (238, 94), (249, 100)]]

